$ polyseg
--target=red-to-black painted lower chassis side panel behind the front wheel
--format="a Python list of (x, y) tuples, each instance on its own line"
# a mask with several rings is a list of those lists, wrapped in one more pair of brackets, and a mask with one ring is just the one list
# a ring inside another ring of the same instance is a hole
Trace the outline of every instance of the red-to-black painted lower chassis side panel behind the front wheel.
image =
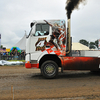
[(99, 70), (98, 57), (62, 57), (64, 70)]

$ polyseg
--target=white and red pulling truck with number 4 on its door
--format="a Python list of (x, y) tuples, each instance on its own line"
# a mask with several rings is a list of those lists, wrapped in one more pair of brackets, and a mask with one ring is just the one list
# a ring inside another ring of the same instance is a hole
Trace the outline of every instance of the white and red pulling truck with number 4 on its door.
[[(66, 31), (67, 30), (67, 31)], [(71, 55), (70, 19), (38, 20), (31, 23), (26, 39), (26, 68), (39, 68), (45, 78), (55, 78), (58, 69), (100, 70), (99, 57), (73, 57)]]

